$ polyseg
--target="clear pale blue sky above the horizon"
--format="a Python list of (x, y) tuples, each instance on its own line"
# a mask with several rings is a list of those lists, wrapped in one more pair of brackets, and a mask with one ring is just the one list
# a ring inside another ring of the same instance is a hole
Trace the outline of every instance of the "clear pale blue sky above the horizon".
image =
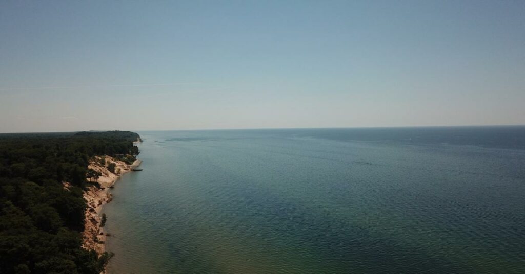
[(525, 1), (0, 2), (0, 132), (525, 124)]

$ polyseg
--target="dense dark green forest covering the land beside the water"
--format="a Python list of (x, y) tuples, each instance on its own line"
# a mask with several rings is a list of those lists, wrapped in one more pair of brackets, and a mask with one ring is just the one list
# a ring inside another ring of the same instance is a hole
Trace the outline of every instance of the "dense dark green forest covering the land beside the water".
[(100, 273), (107, 254), (81, 247), (89, 159), (134, 157), (138, 138), (130, 131), (0, 134), (0, 272)]

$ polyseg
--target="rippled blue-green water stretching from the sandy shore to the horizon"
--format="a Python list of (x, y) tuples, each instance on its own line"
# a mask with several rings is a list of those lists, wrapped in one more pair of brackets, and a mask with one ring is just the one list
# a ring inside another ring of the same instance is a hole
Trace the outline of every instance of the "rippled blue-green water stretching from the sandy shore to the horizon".
[(525, 127), (139, 134), (109, 273), (525, 273)]

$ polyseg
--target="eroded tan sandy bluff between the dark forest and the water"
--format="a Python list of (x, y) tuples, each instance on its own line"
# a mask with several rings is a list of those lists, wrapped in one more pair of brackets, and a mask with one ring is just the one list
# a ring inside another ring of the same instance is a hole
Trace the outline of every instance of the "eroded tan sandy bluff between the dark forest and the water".
[[(104, 163), (101, 163), (102, 158)], [(109, 156), (95, 156), (90, 160), (88, 169), (93, 169), (101, 173), (97, 182), (100, 188), (95, 185), (90, 185), (83, 191), (83, 198), (86, 200), (86, 215), (85, 226), (82, 232), (82, 247), (85, 249), (95, 250), (100, 256), (106, 251), (106, 239), (108, 234), (104, 232), (104, 228), (100, 227), (102, 207), (111, 202), (112, 195), (109, 189), (113, 188), (117, 180), (122, 174), (128, 173), (131, 169), (138, 167), (141, 160), (135, 160), (131, 165), (120, 160), (116, 160)], [(115, 164), (115, 172), (108, 169), (109, 163)]]

